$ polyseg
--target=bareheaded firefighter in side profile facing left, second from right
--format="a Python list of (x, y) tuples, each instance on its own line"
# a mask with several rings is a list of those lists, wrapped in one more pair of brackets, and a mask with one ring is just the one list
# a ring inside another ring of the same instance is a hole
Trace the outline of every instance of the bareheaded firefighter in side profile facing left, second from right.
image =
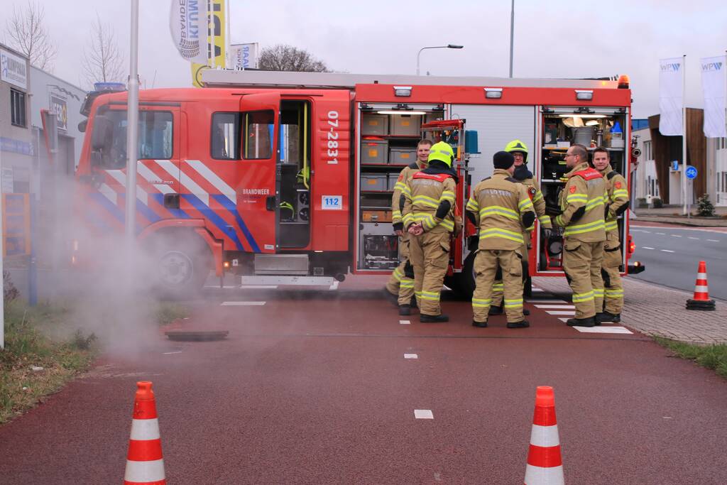
[(565, 188), (561, 191), (561, 214), (553, 220), (565, 228), (563, 233), (563, 270), (573, 290), (575, 318), (569, 326), (594, 326), (595, 314), (603, 307), (603, 244), (606, 223), (603, 207), (606, 182), (598, 170), (588, 165), (588, 151), (583, 145), (571, 145), (566, 153)]

